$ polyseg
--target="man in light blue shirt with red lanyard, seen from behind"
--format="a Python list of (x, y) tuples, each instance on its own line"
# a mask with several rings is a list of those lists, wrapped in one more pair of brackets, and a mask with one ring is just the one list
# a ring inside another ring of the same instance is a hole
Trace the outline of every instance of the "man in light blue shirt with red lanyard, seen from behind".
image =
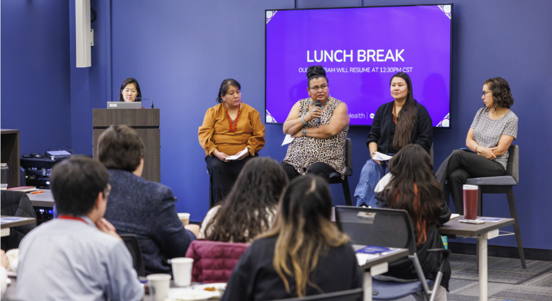
[(59, 216), (19, 245), (18, 300), (141, 300), (129, 250), (103, 218), (109, 173), (91, 158), (54, 166), (50, 186)]

